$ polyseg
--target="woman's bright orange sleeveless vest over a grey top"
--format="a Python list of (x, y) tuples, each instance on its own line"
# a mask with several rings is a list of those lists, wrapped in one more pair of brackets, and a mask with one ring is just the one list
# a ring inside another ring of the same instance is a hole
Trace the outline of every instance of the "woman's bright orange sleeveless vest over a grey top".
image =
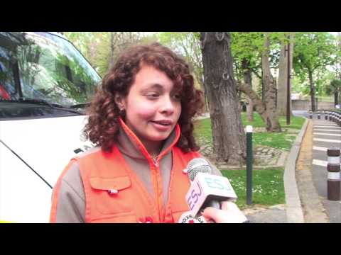
[[(137, 139), (124, 123), (122, 127), (139, 145)], [(180, 215), (189, 210), (185, 195), (190, 188), (190, 181), (183, 169), (195, 157), (197, 152), (184, 153), (175, 147), (180, 136), (180, 128), (175, 127), (177, 138), (168, 147), (173, 153), (173, 169), (168, 187), (168, 203), (163, 203), (163, 186), (158, 160), (153, 162), (146, 157), (151, 171), (153, 196), (148, 193), (144, 183), (126, 163), (121, 152), (114, 145), (112, 152), (102, 150), (85, 157), (74, 158), (80, 166), (80, 175), (85, 189), (85, 222), (178, 222)], [(142, 146), (141, 152), (148, 154)], [(161, 159), (162, 154), (158, 159)], [(139, 169), (136, 169), (139, 171)], [(53, 215), (53, 214), (51, 214)], [(53, 222), (53, 219), (51, 217)]]

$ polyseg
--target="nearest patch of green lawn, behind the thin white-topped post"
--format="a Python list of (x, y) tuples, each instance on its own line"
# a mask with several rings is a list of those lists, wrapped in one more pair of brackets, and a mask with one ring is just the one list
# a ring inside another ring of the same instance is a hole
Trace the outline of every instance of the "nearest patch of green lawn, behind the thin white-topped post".
[[(240, 209), (249, 207), (247, 203), (247, 171), (222, 170), (237, 193), (237, 205)], [(283, 167), (259, 169), (252, 172), (252, 205), (278, 205), (286, 203), (283, 183)]]

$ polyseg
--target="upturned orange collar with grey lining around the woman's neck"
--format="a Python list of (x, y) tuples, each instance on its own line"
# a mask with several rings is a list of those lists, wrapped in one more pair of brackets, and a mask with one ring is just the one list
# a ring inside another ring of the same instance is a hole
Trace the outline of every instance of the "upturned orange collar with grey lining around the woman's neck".
[[(139, 137), (137, 137), (134, 132), (126, 125), (126, 123), (124, 123), (121, 117), (119, 118), (119, 125), (119, 135), (117, 136), (117, 141), (121, 152), (135, 159), (147, 159), (148, 161), (154, 161), (144, 144), (141, 142), (141, 140), (139, 140)], [(171, 135), (169, 135), (166, 142), (163, 144), (156, 162), (171, 152), (171, 149), (176, 142), (178, 142), (179, 138), (180, 127), (178, 124), (176, 124), (174, 130), (171, 132)]]

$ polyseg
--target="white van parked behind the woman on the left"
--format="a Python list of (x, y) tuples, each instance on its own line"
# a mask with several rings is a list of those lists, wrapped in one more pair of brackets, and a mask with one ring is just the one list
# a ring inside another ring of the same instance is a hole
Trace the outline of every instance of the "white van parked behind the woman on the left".
[(101, 78), (56, 33), (0, 32), (0, 221), (48, 222), (52, 187), (77, 153)]

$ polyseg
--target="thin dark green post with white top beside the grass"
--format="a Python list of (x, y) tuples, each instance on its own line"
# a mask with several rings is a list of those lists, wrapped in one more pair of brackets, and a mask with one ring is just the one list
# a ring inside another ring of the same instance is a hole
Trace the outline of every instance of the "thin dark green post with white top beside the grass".
[(247, 125), (247, 205), (252, 204), (252, 126)]

